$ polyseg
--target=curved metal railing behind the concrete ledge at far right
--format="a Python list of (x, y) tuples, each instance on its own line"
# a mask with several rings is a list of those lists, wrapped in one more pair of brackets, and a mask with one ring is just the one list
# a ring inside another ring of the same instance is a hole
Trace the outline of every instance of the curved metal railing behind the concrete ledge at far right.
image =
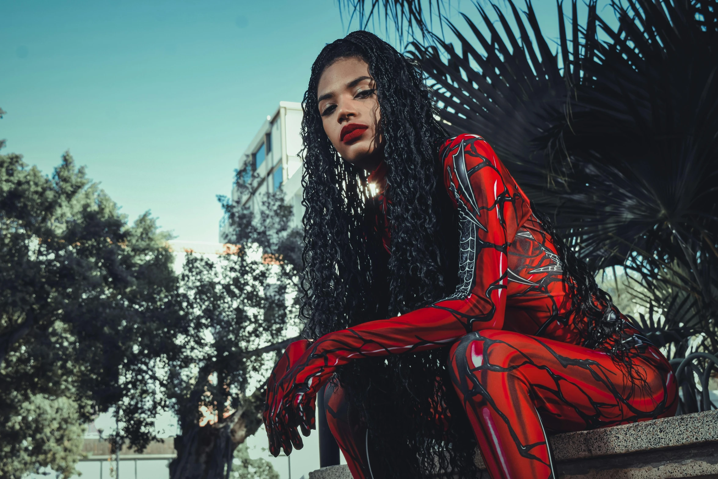
[(718, 368), (718, 358), (709, 353), (692, 353), (685, 358), (673, 358), (670, 362), (679, 386), (676, 416), (718, 409), (718, 405), (711, 400), (709, 390), (711, 372), (713, 368)]

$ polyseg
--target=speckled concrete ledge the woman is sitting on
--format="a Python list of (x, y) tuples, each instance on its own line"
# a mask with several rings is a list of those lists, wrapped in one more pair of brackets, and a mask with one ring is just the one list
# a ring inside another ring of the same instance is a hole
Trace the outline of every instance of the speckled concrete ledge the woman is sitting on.
[[(560, 479), (718, 479), (718, 411), (556, 434), (551, 449)], [(309, 479), (352, 476), (339, 465)]]

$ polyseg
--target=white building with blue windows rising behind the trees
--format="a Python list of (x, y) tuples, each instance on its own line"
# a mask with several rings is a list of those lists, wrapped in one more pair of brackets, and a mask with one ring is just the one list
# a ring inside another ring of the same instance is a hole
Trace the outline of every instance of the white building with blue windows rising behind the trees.
[[(249, 205), (254, 212), (261, 204), (261, 195), (274, 192), (281, 185), (286, 202), (294, 210), (294, 224), (302, 224), (302, 137), (299, 129), (302, 126), (302, 104), (292, 101), (280, 101), (274, 115), (267, 116), (257, 134), (250, 141), (241, 155), (238, 168), (242, 169), (246, 162), (251, 162), (253, 178), (251, 192), (241, 195), (235, 186), (232, 187), (232, 201), (240, 201)], [(250, 180), (247, 178), (247, 180)], [(219, 241), (225, 243), (228, 236), (226, 215), (220, 220)]]

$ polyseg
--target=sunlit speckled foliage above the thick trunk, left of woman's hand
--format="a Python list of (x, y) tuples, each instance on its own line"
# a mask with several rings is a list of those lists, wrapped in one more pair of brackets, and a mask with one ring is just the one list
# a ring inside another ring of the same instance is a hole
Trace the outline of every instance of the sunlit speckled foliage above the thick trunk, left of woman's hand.
[(246, 248), (216, 257), (187, 255), (180, 283), (187, 335), (178, 338), (183, 362), (170, 369), (168, 394), (188, 424), (197, 424), (197, 406), (220, 417), (241, 408), (249, 376), (264, 364), (245, 353), (282, 338), (284, 289), (269, 284), (271, 266)]

